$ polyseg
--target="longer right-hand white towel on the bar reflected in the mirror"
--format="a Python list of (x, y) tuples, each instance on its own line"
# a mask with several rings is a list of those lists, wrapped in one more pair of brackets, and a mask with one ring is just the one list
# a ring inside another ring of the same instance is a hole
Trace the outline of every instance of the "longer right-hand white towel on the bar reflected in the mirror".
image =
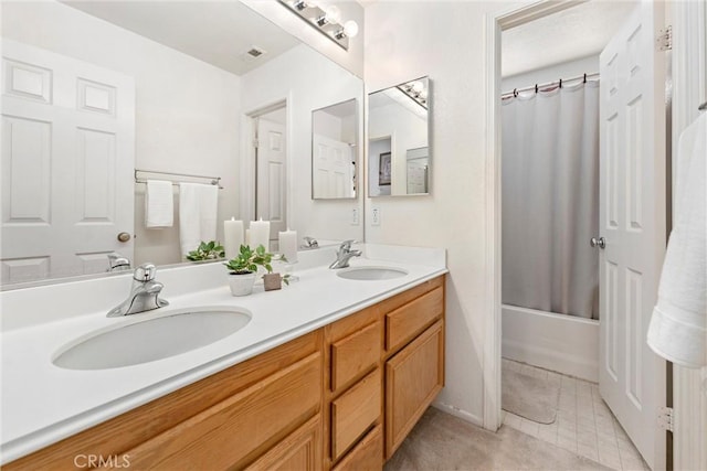
[(199, 244), (217, 238), (219, 186), (199, 183), (179, 184), (179, 239), (181, 255)]

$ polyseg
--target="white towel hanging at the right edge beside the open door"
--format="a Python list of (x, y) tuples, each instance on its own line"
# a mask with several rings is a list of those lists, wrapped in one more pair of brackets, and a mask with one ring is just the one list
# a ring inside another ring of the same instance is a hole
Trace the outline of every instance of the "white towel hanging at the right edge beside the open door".
[(707, 365), (707, 114), (680, 136), (675, 226), (665, 254), (648, 345), (678, 365)]

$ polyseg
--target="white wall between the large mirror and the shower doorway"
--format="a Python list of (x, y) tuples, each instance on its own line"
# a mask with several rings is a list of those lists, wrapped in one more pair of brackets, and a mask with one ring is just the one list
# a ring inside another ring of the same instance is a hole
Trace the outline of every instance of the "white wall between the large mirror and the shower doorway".
[[(485, 15), (528, 2), (379, 1), (366, 8), (367, 88), (424, 75), (434, 83), (432, 194), (367, 200), (366, 240), (447, 249), (446, 386), (437, 405), (479, 425), (484, 350), (494, 341), (485, 338), (493, 322), (486, 290)], [(380, 226), (368, 223), (373, 206)]]

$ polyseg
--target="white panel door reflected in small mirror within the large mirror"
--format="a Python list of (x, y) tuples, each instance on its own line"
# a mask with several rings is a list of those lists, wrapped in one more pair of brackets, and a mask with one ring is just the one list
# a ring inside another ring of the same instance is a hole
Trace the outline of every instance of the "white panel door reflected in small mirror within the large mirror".
[(352, 197), (351, 147), (326, 136), (314, 135), (314, 196)]

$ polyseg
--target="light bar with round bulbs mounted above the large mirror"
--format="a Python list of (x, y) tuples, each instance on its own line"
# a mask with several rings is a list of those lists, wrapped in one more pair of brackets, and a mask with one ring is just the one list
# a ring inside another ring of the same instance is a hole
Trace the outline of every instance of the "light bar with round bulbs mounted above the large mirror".
[(349, 20), (341, 24), (341, 10), (321, 6), (317, 0), (278, 0), (297, 17), (309, 23), (331, 41), (349, 50), (349, 39), (358, 34), (358, 24)]

